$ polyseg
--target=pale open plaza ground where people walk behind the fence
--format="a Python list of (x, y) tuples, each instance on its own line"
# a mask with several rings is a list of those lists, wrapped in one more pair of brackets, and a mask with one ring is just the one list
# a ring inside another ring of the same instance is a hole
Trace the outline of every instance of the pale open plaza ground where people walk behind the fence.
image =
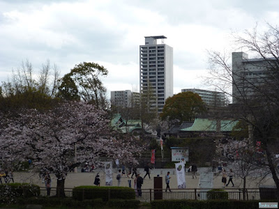
[[(197, 172), (197, 178), (192, 178), (191, 173), (186, 173), (186, 187), (191, 188), (199, 188), (199, 173), (201, 172), (207, 172), (211, 171), (209, 170), (211, 168), (198, 168)], [(140, 170), (140, 176), (142, 178), (145, 175), (144, 169)], [(170, 176), (172, 177), (170, 179), (169, 186), (171, 189), (177, 189), (177, 181), (176, 181), (176, 173), (174, 169), (153, 169), (151, 170), (151, 179), (146, 176), (144, 179), (144, 184), (142, 185), (142, 189), (153, 189), (153, 177), (160, 175), (163, 177), (163, 187), (166, 186), (165, 184), (165, 175), (167, 174), (167, 171), (170, 172)], [(73, 188), (81, 185), (93, 185), (93, 181), (95, 179), (96, 174), (99, 172), (100, 175), (100, 185), (105, 186), (105, 173), (104, 170), (94, 171), (93, 173), (68, 173), (68, 176), (65, 181), (65, 188)], [(52, 187), (56, 187), (56, 178), (55, 176), (51, 175), (52, 177)], [(216, 173), (213, 176), (213, 188), (220, 188), (223, 187), (223, 183), (221, 182), (222, 175), (220, 173)], [(33, 183), (36, 185), (39, 185), (40, 187), (44, 187), (45, 184), (42, 183), (42, 180), (39, 178), (38, 173), (27, 173), (27, 172), (15, 172), (14, 173), (14, 179), (15, 182), (21, 182), (21, 183)], [(247, 187), (249, 188), (255, 188), (259, 187), (257, 184), (258, 180), (255, 180), (254, 178), (248, 178), (247, 180)], [(275, 185), (273, 182), (273, 179), (271, 177), (266, 178), (264, 182), (262, 182), (264, 185)], [(133, 180), (132, 180), (132, 187), (133, 187)], [(240, 178), (234, 178), (234, 185), (235, 187), (243, 187), (242, 180)], [(113, 186), (117, 186), (117, 180), (116, 180), (116, 169), (114, 169), (114, 176), (113, 176)], [(121, 179), (121, 187), (128, 187), (128, 178), (123, 177)], [(232, 185), (229, 185), (229, 187), (232, 187)], [(229, 188), (228, 187), (228, 188)]]

